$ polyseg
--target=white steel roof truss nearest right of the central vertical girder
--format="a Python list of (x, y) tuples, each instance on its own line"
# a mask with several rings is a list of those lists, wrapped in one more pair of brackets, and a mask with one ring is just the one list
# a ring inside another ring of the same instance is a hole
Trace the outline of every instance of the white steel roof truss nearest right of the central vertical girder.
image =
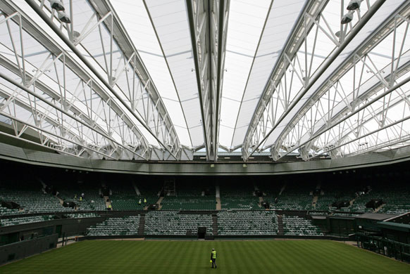
[[(371, 3), (367, 1), (368, 11), (366, 13), (360, 10), (355, 11), (355, 14), (357, 14), (356, 25), (352, 22), (341, 24), (340, 20), (340, 28), (337, 32), (333, 31), (335, 30), (334, 24), (332, 28), (332, 24), (329, 23), (332, 19), (325, 16), (327, 6), (316, 17), (309, 15), (309, 13), (304, 15), (299, 25), (309, 26), (310, 28), (304, 29), (304, 35), (300, 37), (299, 44), (293, 41), (292, 44), (299, 45), (299, 48), (292, 56), (284, 54), (282, 60), (285, 64), (282, 67), (282, 74), (273, 74), (275, 78), (271, 79), (266, 88), (265, 95), (267, 98), (261, 97), (259, 109), (255, 112), (255, 117), (260, 118), (259, 120), (254, 119), (255, 124), (249, 126), (247, 139), (242, 150), (244, 159), (247, 159), (259, 147), (261, 147), (260, 150), (272, 147), (273, 159), (279, 159), (280, 155), (283, 155), (283, 151), (291, 152), (295, 149), (297, 143), (282, 145), (280, 137), (285, 135), (283, 132), (287, 133), (290, 130), (294, 130), (293, 133), (299, 133), (300, 129), (294, 127), (294, 122), (299, 121), (297, 118), (305, 113), (305, 109), (301, 105), (308, 103), (314, 105), (313, 102), (316, 102), (314, 96), (317, 96), (318, 87), (324, 82), (322, 79), (325, 79), (325, 77), (330, 79), (331, 77), (333, 81), (336, 81), (340, 78), (340, 72), (339, 74), (329, 74), (329, 72), (332, 72), (332, 69), (334, 70), (341, 63), (340, 60), (346, 58), (346, 52), (355, 50), (354, 45), (361, 46), (357, 41), (360, 39), (364, 41), (366, 35), (370, 36), (367, 32), (360, 32), (369, 20), (373, 20), (370, 21), (373, 22), (373, 28), (378, 26), (375, 25), (375, 20), (379, 20), (378, 23), (383, 25), (383, 22), (390, 20), (389, 18), (394, 14), (395, 7), (406, 6), (405, 1), (397, 2), (395, 6), (392, 6), (391, 2), (383, 5), (384, 2), (375, 1)], [(378, 13), (380, 7), (383, 8)], [(342, 19), (344, 13), (343, 8), (342, 2), (340, 19)], [(366, 25), (367, 29), (365, 30), (371, 29), (368, 25)], [(380, 34), (379, 40), (373, 41), (374, 44), (385, 38), (384, 33), (378, 32), (379, 30), (380, 28), (371, 31), (373, 34)], [(321, 32), (322, 39), (328, 39), (328, 44), (333, 44), (333, 47), (325, 47), (325, 51), (323, 51), (323, 46), (319, 46), (317, 40), (318, 34)], [(355, 38), (356, 40), (354, 40)], [(292, 119), (292, 117), (297, 118)]]

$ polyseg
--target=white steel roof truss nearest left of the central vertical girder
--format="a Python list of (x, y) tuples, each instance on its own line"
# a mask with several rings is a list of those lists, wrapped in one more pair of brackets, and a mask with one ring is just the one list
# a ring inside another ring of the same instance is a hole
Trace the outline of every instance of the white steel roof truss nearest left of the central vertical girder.
[(88, 4), (79, 6), (70, 0), (66, 8), (69, 7), (71, 22), (64, 23), (44, 1), (26, 2), (142, 124), (144, 131), (154, 137), (161, 145), (159, 150), (169, 152), (164, 159), (180, 159), (185, 148), (180, 145), (161, 96), (111, 4), (87, 1)]

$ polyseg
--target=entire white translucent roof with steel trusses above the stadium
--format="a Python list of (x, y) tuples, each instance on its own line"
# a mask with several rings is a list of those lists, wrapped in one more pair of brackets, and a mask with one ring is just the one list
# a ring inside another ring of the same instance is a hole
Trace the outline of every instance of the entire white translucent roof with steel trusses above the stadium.
[(410, 144), (406, 0), (0, 0), (1, 136), (94, 159)]

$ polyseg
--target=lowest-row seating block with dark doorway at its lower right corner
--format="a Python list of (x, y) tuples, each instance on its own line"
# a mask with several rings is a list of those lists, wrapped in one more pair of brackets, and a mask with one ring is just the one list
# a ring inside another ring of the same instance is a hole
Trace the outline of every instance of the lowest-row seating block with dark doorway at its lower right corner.
[(145, 215), (145, 235), (197, 235), (199, 227), (212, 234), (212, 216), (178, 214), (177, 211), (151, 211)]

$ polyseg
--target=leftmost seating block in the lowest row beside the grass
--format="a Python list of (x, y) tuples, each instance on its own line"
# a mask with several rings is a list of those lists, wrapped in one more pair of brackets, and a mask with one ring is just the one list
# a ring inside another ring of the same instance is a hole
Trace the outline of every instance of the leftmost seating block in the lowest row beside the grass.
[(87, 228), (88, 236), (122, 236), (137, 235), (139, 228), (139, 215), (125, 216), (123, 218), (107, 218), (96, 226)]

